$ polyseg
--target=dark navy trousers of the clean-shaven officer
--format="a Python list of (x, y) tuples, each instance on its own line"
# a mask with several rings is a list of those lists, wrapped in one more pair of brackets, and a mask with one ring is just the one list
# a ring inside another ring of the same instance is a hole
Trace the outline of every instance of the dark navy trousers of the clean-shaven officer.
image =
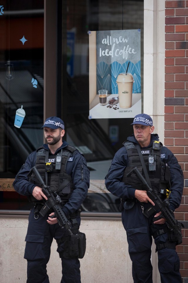
[[(144, 204), (147, 208), (148, 204)], [(156, 213), (154, 213), (155, 215)], [(142, 213), (139, 202), (129, 210), (122, 211), (122, 223), (127, 233), (129, 255), (132, 261), (132, 277), (134, 283), (152, 283), (151, 246), (152, 233), (163, 225), (153, 224), (153, 216), (147, 218)], [(166, 243), (168, 233), (157, 236), (155, 244)], [(179, 257), (173, 248), (162, 248), (158, 253), (158, 269), (161, 283), (182, 283), (179, 273)]]

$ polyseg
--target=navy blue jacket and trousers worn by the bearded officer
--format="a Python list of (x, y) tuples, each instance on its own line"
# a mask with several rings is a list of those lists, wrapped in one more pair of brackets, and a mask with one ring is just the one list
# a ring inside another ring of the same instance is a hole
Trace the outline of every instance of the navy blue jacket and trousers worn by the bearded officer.
[[(62, 146), (58, 148), (54, 156), (60, 153), (61, 149), (65, 148), (67, 145), (66, 141), (63, 141)], [(49, 151), (48, 145), (44, 144), (43, 148)], [(14, 189), (19, 194), (28, 197), (32, 195), (33, 189), (36, 187), (36, 184), (32, 184), (28, 181), (27, 176), (28, 172), (36, 164), (36, 156), (37, 151), (34, 151), (28, 156), (13, 183)], [(80, 170), (80, 168), (82, 168), (82, 170)], [(78, 151), (75, 151), (68, 159), (66, 173), (72, 176), (73, 181), (73, 192), (62, 209), (68, 217), (68, 215), (73, 214), (79, 209), (89, 188), (89, 170), (85, 158)], [(26, 248), (24, 258), (28, 261), (27, 283), (49, 283), (46, 264), (50, 258), (51, 243), (53, 238), (60, 239), (67, 237), (64, 241), (58, 243), (57, 251), (62, 254), (67, 246), (69, 233), (65, 228), (62, 229), (58, 223), (54, 225), (48, 224), (46, 220), (48, 219), (49, 213), (47, 213), (45, 217), (42, 217), (40, 214), (38, 214), (38, 218), (34, 217), (34, 210), (35, 208), (31, 209), (28, 218), (29, 223), (25, 240)], [(79, 214), (76, 219), (79, 228)], [(65, 258), (61, 256), (61, 261), (63, 274), (61, 283), (80, 283), (80, 262), (78, 258)]]

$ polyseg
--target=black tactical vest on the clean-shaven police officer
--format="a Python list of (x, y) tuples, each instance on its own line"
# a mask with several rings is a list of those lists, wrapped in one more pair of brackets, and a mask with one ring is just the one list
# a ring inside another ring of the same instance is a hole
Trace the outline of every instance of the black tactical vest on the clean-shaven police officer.
[[(127, 150), (128, 165), (125, 168), (122, 182), (124, 182), (126, 185), (131, 185), (131, 187), (134, 189), (145, 190), (145, 186), (141, 183), (141, 181), (138, 180), (136, 174), (133, 173), (131, 176), (127, 177), (127, 174), (135, 167), (137, 167), (140, 173), (144, 176), (137, 148), (135, 144), (130, 141), (125, 141), (123, 145)], [(143, 150), (141, 149), (141, 152), (150, 178), (152, 189), (156, 189), (157, 192), (166, 196), (166, 189), (170, 189), (170, 172), (169, 167), (161, 161), (161, 149), (162, 144), (160, 143), (160, 150), (154, 150), (153, 152), (155, 156), (155, 171), (149, 171), (148, 157), (152, 153), (152, 147)]]

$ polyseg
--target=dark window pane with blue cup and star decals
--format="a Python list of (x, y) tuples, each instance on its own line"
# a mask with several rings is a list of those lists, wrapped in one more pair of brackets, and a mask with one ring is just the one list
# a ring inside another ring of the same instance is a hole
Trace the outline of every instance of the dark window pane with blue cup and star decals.
[(0, 4), (0, 209), (26, 209), (11, 184), (43, 143), (44, 1)]

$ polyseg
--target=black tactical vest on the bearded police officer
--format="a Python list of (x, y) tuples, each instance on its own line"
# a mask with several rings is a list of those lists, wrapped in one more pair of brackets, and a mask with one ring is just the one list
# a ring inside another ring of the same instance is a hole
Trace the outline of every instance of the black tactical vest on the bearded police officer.
[[(70, 198), (72, 192), (73, 192), (73, 181), (72, 176), (70, 174), (66, 173), (66, 165), (67, 161), (70, 158), (70, 156), (75, 152), (76, 148), (70, 145), (67, 145), (65, 148), (62, 149), (62, 162), (61, 162), (61, 169), (56, 170), (55, 169), (55, 163), (52, 163), (52, 171), (47, 172), (46, 174), (46, 162), (48, 162), (49, 159), (55, 159), (56, 156), (52, 155), (46, 149), (43, 147), (38, 148), (37, 150), (37, 156), (36, 156), (36, 168), (38, 172), (40, 173), (42, 179), (44, 182), (47, 182), (47, 185), (51, 187), (51, 189), (58, 193), (58, 195), (61, 197), (62, 205), (65, 205), (66, 202), (68, 202), (68, 199)], [(46, 156), (48, 158), (46, 158)], [(47, 179), (46, 180), (46, 176)], [(30, 182), (36, 184), (36, 186), (40, 187), (40, 184), (37, 184), (37, 182), (33, 180), (29, 180)], [(31, 202), (37, 202), (36, 199), (32, 196)]]

